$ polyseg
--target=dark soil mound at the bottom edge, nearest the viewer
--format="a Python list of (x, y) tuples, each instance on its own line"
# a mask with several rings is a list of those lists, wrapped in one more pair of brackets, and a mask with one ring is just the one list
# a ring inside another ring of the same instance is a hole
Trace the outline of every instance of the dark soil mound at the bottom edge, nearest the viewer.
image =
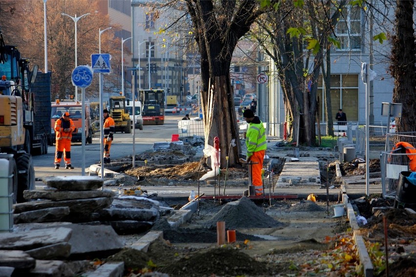
[(211, 248), (174, 261), (159, 270), (169, 276), (259, 276), (269, 269), (240, 251), (225, 247)]

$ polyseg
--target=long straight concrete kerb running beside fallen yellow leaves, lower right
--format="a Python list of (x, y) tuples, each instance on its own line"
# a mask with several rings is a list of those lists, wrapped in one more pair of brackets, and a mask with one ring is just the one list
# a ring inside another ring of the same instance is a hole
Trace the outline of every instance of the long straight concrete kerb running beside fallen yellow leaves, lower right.
[(353, 229), (354, 234), (354, 243), (358, 249), (358, 255), (360, 257), (360, 262), (363, 265), (364, 276), (373, 277), (374, 276), (374, 267), (371, 262), (370, 255), (368, 254), (367, 247), (365, 246), (364, 239), (361, 236), (361, 231), (359, 230), (357, 218), (354, 213), (353, 205), (349, 201), (347, 194), (342, 195), (342, 203), (347, 207), (347, 217), (350, 220), (350, 226)]

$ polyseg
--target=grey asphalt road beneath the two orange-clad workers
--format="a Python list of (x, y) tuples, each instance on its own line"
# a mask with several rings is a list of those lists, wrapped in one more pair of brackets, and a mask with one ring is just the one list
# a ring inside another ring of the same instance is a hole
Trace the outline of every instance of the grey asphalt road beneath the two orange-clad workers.
[[(135, 153), (139, 154), (153, 147), (154, 142), (171, 141), (172, 134), (178, 133), (178, 120), (184, 115), (166, 116), (164, 125), (146, 125), (143, 130), (135, 129)], [(61, 168), (55, 169), (55, 144), (48, 146), (48, 154), (33, 156), (35, 166), (35, 178), (47, 176), (80, 176), (82, 173), (82, 160), (85, 159), (85, 172), (91, 164), (100, 161), (100, 133), (96, 133), (92, 139), (92, 144), (85, 145), (82, 152), (82, 144), (74, 142), (71, 144), (71, 163), (74, 169), (65, 169), (65, 162), (61, 161)], [(111, 144), (111, 158), (121, 158), (133, 154), (133, 134), (116, 133)], [(85, 174), (87, 175), (87, 173)]]

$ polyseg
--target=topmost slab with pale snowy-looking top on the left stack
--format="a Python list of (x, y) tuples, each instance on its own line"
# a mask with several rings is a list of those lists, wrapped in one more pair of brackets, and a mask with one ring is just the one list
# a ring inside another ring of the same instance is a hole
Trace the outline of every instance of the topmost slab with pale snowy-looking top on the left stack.
[(97, 176), (56, 176), (43, 178), (48, 186), (65, 191), (96, 190), (104, 185), (104, 179)]

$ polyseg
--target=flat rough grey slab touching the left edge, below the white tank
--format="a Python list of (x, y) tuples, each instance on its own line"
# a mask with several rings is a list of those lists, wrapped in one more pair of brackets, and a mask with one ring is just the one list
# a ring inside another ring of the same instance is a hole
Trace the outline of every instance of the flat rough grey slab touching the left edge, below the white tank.
[(71, 234), (72, 230), (70, 228), (63, 227), (38, 229), (30, 232), (0, 233), (0, 249), (35, 249), (55, 243), (67, 242)]

